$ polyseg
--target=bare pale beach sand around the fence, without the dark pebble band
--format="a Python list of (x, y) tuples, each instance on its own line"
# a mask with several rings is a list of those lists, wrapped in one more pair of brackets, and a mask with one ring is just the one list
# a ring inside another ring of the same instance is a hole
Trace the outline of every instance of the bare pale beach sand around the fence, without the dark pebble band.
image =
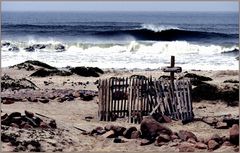
[[(74, 89), (74, 90), (93, 90), (97, 91), (97, 86), (94, 84), (98, 79), (109, 77), (129, 77), (131, 75), (145, 75), (159, 78), (161, 75), (169, 75), (161, 70), (105, 70), (105, 74), (100, 77), (81, 77), (78, 75), (71, 76), (51, 76), (51, 77), (29, 77), (34, 71), (26, 71), (24, 69), (10, 69), (3, 68), (2, 75), (7, 74), (14, 79), (27, 78), (36, 84), (41, 90), (46, 89)], [(185, 71), (183, 71), (185, 72)], [(198, 75), (211, 77), (213, 81), (208, 83), (224, 86), (223, 81), (233, 79), (238, 80), (238, 71), (188, 71)], [(182, 76), (183, 73), (176, 74), (176, 77)], [(44, 81), (51, 81), (49, 85), (45, 85)], [(75, 85), (76, 82), (89, 82), (87, 85)], [(63, 85), (63, 82), (65, 84)], [(170, 142), (167, 145), (155, 146), (154, 144), (140, 146), (139, 139), (126, 139), (125, 143), (114, 143), (111, 138), (103, 138), (101, 136), (89, 136), (82, 134), (82, 131), (75, 129), (73, 126), (79, 127), (86, 131), (91, 131), (95, 127), (111, 123), (114, 125), (121, 125), (124, 127), (135, 126), (138, 129), (140, 124), (130, 124), (123, 120), (114, 122), (104, 122), (98, 120), (98, 97), (94, 97), (91, 101), (84, 101), (80, 98), (75, 98), (72, 101), (58, 102), (57, 99), (50, 100), (48, 103), (29, 102), (27, 100), (14, 102), (13, 104), (1, 104), (2, 114), (21, 112), (28, 110), (33, 113), (39, 113), (49, 118), (56, 120), (57, 129), (52, 138), (49, 136), (49, 131), (42, 130), (22, 130), (11, 127), (8, 132), (21, 133), (21, 139), (34, 139), (35, 136), (30, 136), (29, 133), (37, 133), (41, 139), (42, 149), (44, 151), (179, 151), (180, 142)], [(193, 112), (196, 118), (206, 116), (221, 116), (231, 114), (232, 116), (239, 115), (239, 107), (228, 106), (226, 102), (221, 100), (208, 101), (202, 100), (200, 102), (193, 101)], [(92, 117), (91, 120), (86, 120), (85, 117)], [(43, 118), (43, 117), (41, 117)], [(229, 136), (229, 129), (215, 129), (202, 121), (194, 121), (186, 125), (182, 125), (181, 121), (173, 121), (171, 123), (163, 123), (174, 132), (179, 130), (188, 130), (193, 132), (198, 138), (208, 139), (213, 134), (219, 136)], [(238, 147), (237, 147), (238, 148)], [(2, 143), (2, 151), (13, 151), (14, 146), (10, 142)], [(206, 149), (195, 149), (195, 151), (206, 151)], [(215, 150), (222, 151), (236, 151), (233, 146), (221, 146)]]

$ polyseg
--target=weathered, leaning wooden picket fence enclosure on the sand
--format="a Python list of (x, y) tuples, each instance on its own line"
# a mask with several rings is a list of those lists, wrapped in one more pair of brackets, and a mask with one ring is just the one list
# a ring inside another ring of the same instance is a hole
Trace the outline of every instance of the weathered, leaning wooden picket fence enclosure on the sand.
[(192, 120), (190, 80), (144, 77), (110, 78), (99, 81), (99, 119), (128, 117), (140, 123), (143, 116), (164, 114), (176, 120)]

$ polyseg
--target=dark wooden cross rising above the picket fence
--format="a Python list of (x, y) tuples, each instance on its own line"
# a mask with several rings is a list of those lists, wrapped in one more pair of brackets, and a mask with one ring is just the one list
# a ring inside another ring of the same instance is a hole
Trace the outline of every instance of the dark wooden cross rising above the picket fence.
[(174, 67), (174, 65), (175, 65), (175, 56), (171, 56), (171, 65), (162, 68), (163, 72), (170, 72), (170, 80), (171, 80), (172, 84), (174, 83), (174, 73), (182, 72), (181, 67), (179, 67), (179, 66)]

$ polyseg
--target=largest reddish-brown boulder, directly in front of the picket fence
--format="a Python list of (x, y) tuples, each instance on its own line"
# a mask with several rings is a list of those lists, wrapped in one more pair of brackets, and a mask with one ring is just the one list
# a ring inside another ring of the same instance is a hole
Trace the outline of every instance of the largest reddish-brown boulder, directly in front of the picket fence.
[(161, 125), (151, 116), (145, 117), (140, 125), (142, 137), (152, 140), (155, 139), (160, 133), (172, 134), (172, 130)]

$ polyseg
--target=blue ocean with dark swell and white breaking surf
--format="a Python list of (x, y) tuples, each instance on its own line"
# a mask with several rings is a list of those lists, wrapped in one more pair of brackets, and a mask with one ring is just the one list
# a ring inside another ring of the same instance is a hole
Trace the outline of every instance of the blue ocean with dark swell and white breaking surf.
[(238, 70), (238, 12), (2, 12), (2, 67)]

